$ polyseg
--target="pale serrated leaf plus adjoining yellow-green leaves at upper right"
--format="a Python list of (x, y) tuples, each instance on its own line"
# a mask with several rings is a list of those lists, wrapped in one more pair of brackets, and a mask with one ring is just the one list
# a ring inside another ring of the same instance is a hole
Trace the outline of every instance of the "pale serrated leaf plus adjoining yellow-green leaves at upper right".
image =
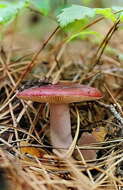
[[(118, 14), (116, 14), (116, 11)], [(71, 5), (68, 8), (65, 8), (57, 16), (60, 26), (66, 27), (69, 24), (74, 24), (78, 20), (81, 20), (81, 23), (86, 20), (90, 21), (91, 19), (96, 18), (97, 16), (103, 16), (104, 18), (110, 19), (113, 22), (116, 19), (123, 20), (123, 7), (112, 7), (112, 8), (88, 8), (80, 5)], [(72, 26), (72, 25), (71, 25)], [(80, 25), (81, 27), (81, 25)]]

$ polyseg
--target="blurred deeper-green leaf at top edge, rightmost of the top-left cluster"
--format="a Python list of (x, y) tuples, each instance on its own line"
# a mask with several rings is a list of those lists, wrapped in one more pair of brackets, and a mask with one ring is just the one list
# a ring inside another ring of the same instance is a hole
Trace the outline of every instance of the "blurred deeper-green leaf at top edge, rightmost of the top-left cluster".
[(50, 0), (31, 0), (32, 5), (43, 15), (48, 15), (50, 11)]

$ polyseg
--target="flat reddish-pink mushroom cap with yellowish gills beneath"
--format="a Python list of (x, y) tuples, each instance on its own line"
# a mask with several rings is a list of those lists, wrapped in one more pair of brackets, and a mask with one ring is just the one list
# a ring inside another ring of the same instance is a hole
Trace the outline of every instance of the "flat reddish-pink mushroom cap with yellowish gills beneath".
[(78, 83), (58, 83), (33, 87), (18, 92), (24, 100), (44, 103), (72, 103), (102, 98), (102, 93), (93, 87)]

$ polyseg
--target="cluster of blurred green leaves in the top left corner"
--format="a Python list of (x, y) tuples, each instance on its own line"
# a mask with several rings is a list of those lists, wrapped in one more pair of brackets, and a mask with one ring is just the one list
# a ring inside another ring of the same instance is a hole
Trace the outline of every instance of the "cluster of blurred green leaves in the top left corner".
[(0, 24), (8, 24), (13, 21), (17, 14), (24, 8), (34, 7), (39, 13), (47, 15), (50, 10), (49, 0), (21, 0), (0, 2)]

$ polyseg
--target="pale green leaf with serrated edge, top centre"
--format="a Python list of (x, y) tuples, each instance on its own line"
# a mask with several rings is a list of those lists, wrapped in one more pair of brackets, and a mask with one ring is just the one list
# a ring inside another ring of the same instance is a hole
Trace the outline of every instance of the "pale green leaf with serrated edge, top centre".
[(57, 18), (60, 26), (65, 27), (76, 20), (93, 18), (94, 16), (94, 9), (80, 5), (72, 5), (71, 7), (62, 9), (62, 13), (60, 13)]

